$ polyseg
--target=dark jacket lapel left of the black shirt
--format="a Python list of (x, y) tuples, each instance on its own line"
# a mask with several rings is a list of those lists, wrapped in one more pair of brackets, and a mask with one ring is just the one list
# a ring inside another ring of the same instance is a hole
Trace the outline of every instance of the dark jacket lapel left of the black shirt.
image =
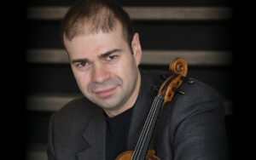
[(96, 115), (90, 119), (90, 123), (84, 129), (84, 140), (89, 147), (80, 151), (77, 155), (79, 160), (105, 159), (106, 122), (103, 114)]

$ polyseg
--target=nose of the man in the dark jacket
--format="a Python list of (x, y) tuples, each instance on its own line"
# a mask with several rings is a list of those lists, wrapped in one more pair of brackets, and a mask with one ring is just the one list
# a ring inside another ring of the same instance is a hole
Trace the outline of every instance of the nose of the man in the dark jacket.
[(109, 77), (108, 68), (101, 65), (96, 64), (92, 71), (92, 81), (96, 83), (103, 83)]

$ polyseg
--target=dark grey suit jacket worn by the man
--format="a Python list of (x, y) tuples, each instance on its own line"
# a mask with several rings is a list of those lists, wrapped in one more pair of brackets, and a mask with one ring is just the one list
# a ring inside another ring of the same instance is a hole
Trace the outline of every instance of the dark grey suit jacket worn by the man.
[[(166, 73), (141, 71), (142, 84), (131, 117), (128, 149), (134, 150), (143, 123)], [(219, 94), (204, 83), (183, 82), (163, 108), (150, 147), (161, 160), (228, 159), (224, 106)], [(55, 112), (49, 123), (49, 160), (105, 159), (106, 121), (103, 110), (84, 97)]]

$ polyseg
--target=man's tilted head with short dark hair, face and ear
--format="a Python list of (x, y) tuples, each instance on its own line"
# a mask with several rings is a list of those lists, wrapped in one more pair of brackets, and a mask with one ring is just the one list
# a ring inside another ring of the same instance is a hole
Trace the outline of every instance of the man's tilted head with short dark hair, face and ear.
[(141, 83), (137, 66), (142, 49), (138, 34), (132, 35), (129, 43), (127, 35), (131, 31), (125, 29), (123, 22), (108, 7), (93, 7), (92, 3), (96, 2), (102, 5), (99, 0), (88, 0), (83, 6), (88, 9), (85, 5), (88, 4), (92, 10), (96, 9), (98, 15), (91, 13), (85, 19), (73, 20), (71, 17), (81, 17), (72, 14), (79, 14), (79, 11), (72, 8), (74, 10), (67, 13), (63, 24), (73, 22), (73, 25), (62, 31), (63, 43), (79, 89), (85, 97), (101, 106), (109, 117), (113, 117), (131, 108), (137, 100)]

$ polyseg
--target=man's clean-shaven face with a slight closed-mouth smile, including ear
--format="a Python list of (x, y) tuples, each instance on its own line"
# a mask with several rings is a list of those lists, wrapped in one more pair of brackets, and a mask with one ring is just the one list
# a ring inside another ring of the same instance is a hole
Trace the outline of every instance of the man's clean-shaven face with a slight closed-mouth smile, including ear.
[(64, 37), (64, 43), (74, 77), (85, 97), (107, 114), (119, 114), (133, 106), (140, 87), (137, 66), (142, 55), (137, 34), (130, 47), (118, 24), (108, 33), (82, 34), (71, 41)]

